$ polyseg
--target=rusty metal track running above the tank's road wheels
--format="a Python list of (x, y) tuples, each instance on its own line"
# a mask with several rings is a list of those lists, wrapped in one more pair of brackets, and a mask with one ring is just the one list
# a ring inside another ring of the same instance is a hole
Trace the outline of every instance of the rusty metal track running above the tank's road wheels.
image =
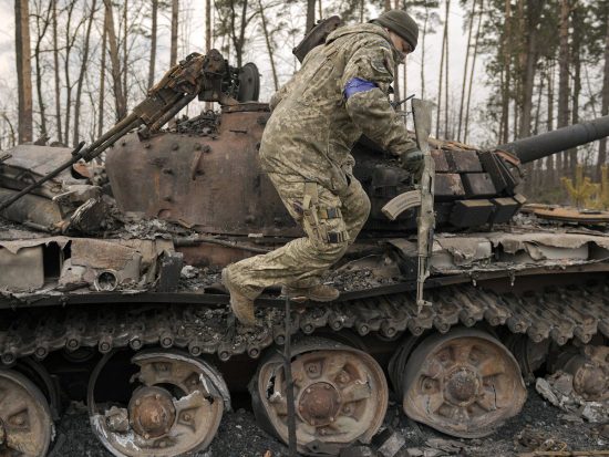
[[(402, 332), (421, 335), (430, 329), (446, 333), (456, 325), (506, 325), (514, 334), (534, 342), (551, 339), (564, 345), (572, 339), (588, 343), (597, 333), (609, 337), (607, 285), (565, 287), (534, 293), (495, 292), (474, 285), (452, 285), (432, 290), (434, 303), (420, 313), (410, 293), (382, 294), (322, 307), (295, 304), (292, 333), (311, 334), (328, 328), (334, 332), (352, 329), (359, 335), (378, 332), (392, 339)], [(221, 295), (218, 295), (221, 297)], [(268, 301), (268, 300), (267, 300)], [(282, 299), (277, 307), (257, 309), (261, 325), (247, 330), (235, 324), (226, 307), (193, 304), (121, 308), (104, 305), (87, 310), (63, 308), (3, 311), (10, 326), (0, 330), (0, 356), (10, 365), (18, 359), (44, 359), (58, 350), (97, 347), (140, 350), (145, 345), (184, 347), (192, 355), (217, 354), (226, 361), (247, 353), (257, 359), (273, 342), (285, 341)], [(17, 319), (16, 319), (17, 318)]]

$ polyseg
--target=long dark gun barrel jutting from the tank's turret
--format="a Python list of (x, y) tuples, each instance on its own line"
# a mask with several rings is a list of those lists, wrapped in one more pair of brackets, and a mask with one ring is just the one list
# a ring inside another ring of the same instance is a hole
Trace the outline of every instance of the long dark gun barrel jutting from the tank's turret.
[(497, 147), (516, 154), (523, 164), (609, 136), (609, 116), (517, 139)]

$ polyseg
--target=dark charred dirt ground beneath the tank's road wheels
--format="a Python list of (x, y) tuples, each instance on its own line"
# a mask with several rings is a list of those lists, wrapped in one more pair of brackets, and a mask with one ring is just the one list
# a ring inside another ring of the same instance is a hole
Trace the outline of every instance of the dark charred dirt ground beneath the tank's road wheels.
[[(398, 434), (400, 439), (404, 438), (405, 444), (391, 457), (503, 457), (519, 456), (540, 448), (608, 450), (609, 455), (608, 425), (570, 420), (565, 418), (560, 409), (546, 403), (535, 388), (529, 387), (527, 403), (518, 416), (488, 437), (460, 440), (412, 423), (401, 414), (399, 406), (391, 402), (383, 429), (376, 436), (372, 448), (382, 446), (389, 436)], [(111, 457), (91, 432), (82, 405), (71, 405), (56, 432), (51, 457)], [(254, 414), (244, 408), (225, 414), (211, 446), (206, 451), (196, 454), (196, 457), (265, 456), (287, 457), (288, 453), (276, 438), (258, 428)], [(379, 456), (384, 457), (381, 454)]]

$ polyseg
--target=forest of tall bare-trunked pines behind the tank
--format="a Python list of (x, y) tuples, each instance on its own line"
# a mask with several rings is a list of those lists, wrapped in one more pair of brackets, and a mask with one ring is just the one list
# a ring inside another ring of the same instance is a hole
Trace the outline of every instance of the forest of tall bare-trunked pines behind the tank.
[[(609, 0), (14, 0), (0, 150), (93, 141), (193, 51), (256, 62), (268, 100), (320, 18), (364, 22), (391, 8), (420, 28), (393, 96), (433, 101), (440, 138), (493, 147), (609, 114)], [(600, 195), (607, 158), (606, 138), (537, 160), (525, 193)]]

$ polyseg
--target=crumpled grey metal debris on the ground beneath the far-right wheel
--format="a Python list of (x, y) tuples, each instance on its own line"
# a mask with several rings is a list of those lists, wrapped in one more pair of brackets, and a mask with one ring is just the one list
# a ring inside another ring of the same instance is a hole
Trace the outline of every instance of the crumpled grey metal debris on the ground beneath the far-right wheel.
[(567, 413), (566, 418), (589, 423), (609, 422), (609, 402), (588, 402), (572, 388), (572, 375), (558, 371), (535, 383), (537, 392), (550, 404)]

